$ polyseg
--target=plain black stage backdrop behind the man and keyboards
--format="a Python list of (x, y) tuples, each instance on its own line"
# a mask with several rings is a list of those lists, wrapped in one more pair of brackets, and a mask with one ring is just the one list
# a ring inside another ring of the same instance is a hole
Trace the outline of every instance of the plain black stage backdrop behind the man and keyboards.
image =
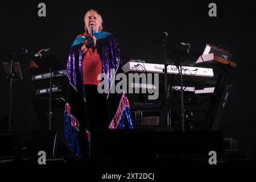
[[(38, 4), (46, 3), (46, 17), (38, 16)], [(209, 17), (209, 3), (217, 4), (217, 17)], [(221, 130), (224, 137), (234, 137), (248, 156), (256, 156), (256, 60), (255, 10), (251, 1), (1, 1), (0, 2), (0, 120), (1, 130), (9, 114), (9, 83), (3, 61), (5, 52), (26, 47), (35, 53), (51, 47), (65, 64), (69, 47), (84, 31), (84, 14), (98, 10), (104, 31), (112, 32), (121, 48), (123, 63), (130, 59), (163, 64), (162, 33), (168, 32), (168, 49), (189, 42), (202, 51), (206, 43), (228, 47), (237, 68), (229, 75), (234, 85), (226, 107)], [(16, 56), (22, 70), (25, 56)], [(25, 73), (26, 74), (26, 73)], [(61, 112), (62, 110), (59, 110)], [(38, 130), (40, 122), (26, 85), (13, 84), (14, 131)]]

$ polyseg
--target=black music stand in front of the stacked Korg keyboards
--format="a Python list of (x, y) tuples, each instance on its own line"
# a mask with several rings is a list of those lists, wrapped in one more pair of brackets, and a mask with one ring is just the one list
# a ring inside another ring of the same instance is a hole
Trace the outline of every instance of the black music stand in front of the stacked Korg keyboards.
[(56, 71), (65, 69), (60, 60), (52, 53), (51, 48), (44, 48), (37, 52), (32, 60), (44, 71), (49, 71), (49, 113), (48, 113), (48, 129), (52, 129), (52, 77), (55, 77)]

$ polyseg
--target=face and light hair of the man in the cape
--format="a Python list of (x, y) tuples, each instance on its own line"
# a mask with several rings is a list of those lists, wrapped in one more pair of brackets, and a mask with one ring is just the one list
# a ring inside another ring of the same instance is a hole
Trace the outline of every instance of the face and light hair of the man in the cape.
[(85, 26), (88, 31), (90, 31), (90, 28), (93, 27), (94, 30), (98, 31), (100, 30), (100, 17), (95, 11), (90, 11), (86, 16), (85, 16)]

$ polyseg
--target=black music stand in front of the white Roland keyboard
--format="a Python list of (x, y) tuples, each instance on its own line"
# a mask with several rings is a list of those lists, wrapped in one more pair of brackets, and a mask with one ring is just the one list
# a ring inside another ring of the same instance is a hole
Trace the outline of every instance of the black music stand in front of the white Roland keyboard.
[(170, 56), (170, 64), (176, 65), (177, 69), (179, 70), (179, 75), (180, 75), (180, 100), (181, 100), (181, 124), (182, 124), (182, 131), (185, 131), (185, 113), (184, 113), (184, 96), (183, 96), (183, 76), (182, 76), (182, 71), (183, 71), (183, 66), (193, 66), (195, 65), (198, 57), (200, 56), (200, 52), (197, 51), (190, 51), (189, 49), (191, 48), (191, 44), (185, 45), (188, 46), (187, 50), (184, 49), (173, 49)]

